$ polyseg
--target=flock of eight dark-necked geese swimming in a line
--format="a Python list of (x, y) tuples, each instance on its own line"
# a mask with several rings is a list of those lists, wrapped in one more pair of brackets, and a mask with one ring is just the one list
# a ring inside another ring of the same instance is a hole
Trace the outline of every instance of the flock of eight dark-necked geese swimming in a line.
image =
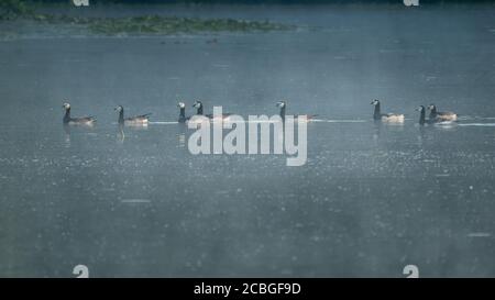
[[(374, 112), (373, 112), (373, 119), (375, 121), (382, 121), (387, 123), (404, 123), (404, 114), (398, 113), (382, 113), (381, 110), (381, 103), (380, 100), (373, 100), (371, 102), (372, 105), (374, 105)], [(80, 116), (80, 118), (73, 118), (70, 115), (70, 104), (64, 103), (65, 109), (65, 115), (64, 115), (64, 124), (67, 125), (94, 125), (96, 122), (95, 116)], [(179, 108), (179, 116), (178, 122), (179, 123), (186, 123), (191, 121), (191, 116), (186, 116), (186, 104), (184, 102), (179, 102), (177, 104)], [(276, 103), (276, 107), (279, 108), (279, 115), (282, 120), (285, 120), (285, 111), (287, 108), (286, 101), (279, 101)], [(223, 113), (220, 115), (213, 115), (213, 114), (204, 114), (204, 104), (201, 101), (196, 101), (193, 104), (193, 108), (196, 109), (196, 115), (204, 115), (210, 120), (216, 121), (216, 119), (221, 118), (221, 120), (227, 120), (232, 113)], [(426, 119), (426, 110), (430, 111), (430, 114), (428, 115), (428, 119)], [(122, 105), (119, 105), (114, 109), (119, 113), (118, 123), (119, 125), (128, 125), (128, 126), (135, 126), (135, 125), (147, 125), (150, 121), (151, 113), (146, 114), (140, 114), (134, 116), (124, 116), (124, 109)], [(419, 115), (419, 124), (433, 124), (433, 123), (440, 123), (440, 122), (452, 122), (458, 120), (458, 114), (453, 112), (440, 112), (437, 110), (437, 107), (435, 104), (430, 104), (427, 108), (424, 105), (420, 105), (417, 109), (420, 113)], [(294, 115), (294, 118), (297, 118), (299, 115)], [(311, 121), (317, 116), (317, 114), (306, 114), (306, 120)]]

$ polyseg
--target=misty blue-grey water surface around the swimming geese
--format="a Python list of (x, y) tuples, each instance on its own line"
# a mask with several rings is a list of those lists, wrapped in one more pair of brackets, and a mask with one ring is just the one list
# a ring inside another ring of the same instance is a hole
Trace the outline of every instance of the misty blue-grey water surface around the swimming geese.
[[(494, 7), (163, 13), (298, 29), (0, 42), (0, 276), (495, 276)], [(405, 123), (374, 123), (375, 98)], [(195, 100), (318, 113), (307, 164), (191, 155)], [(64, 130), (66, 101), (97, 125)], [(419, 126), (429, 103), (460, 121)], [(152, 123), (122, 135), (118, 104)]]

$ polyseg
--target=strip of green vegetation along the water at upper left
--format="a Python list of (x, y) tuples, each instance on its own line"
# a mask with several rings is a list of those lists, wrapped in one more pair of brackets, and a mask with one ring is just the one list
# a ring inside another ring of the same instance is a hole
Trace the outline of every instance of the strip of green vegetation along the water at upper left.
[(67, 24), (87, 29), (100, 35), (167, 35), (199, 32), (267, 32), (290, 30), (294, 26), (268, 21), (234, 19), (199, 19), (162, 15), (128, 18), (84, 18), (36, 13), (32, 4), (21, 0), (0, 2), (0, 21), (24, 19), (40, 24)]

